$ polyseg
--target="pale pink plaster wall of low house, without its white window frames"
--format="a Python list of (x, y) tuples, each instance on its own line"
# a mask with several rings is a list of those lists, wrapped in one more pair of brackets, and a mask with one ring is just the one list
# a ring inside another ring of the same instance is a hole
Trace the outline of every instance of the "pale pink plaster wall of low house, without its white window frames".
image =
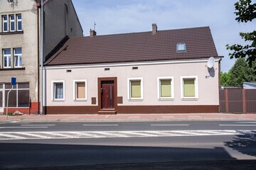
[[(46, 106), (93, 106), (91, 98), (97, 98), (97, 78), (117, 77), (117, 96), (123, 97), (118, 106), (166, 106), (166, 105), (219, 105), (218, 97), (218, 61), (210, 73), (206, 67), (207, 60), (201, 62), (179, 62), (169, 64), (139, 64), (138, 69), (128, 66), (107, 66), (87, 68), (51, 68), (46, 67)], [(110, 68), (110, 71), (105, 71)], [(71, 72), (66, 72), (70, 69)], [(181, 98), (181, 77), (198, 77), (198, 99), (184, 100)], [(207, 77), (206, 77), (207, 76)], [(127, 79), (142, 77), (144, 93), (142, 101), (129, 101), (127, 98)], [(174, 77), (174, 99), (159, 100), (157, 96), (157, 77)], [(87, 101), (73, 101), (73, 80), (87, 79)], [(65, 101), (52, 101), (51, 81), (65, 81)]]

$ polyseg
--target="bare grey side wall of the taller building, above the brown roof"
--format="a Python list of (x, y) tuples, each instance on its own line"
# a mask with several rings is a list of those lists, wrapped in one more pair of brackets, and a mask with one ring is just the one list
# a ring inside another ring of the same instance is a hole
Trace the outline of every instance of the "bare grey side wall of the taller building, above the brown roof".
[(82, 27), (72, 1), (48, 1), (44, 6), (44, 12), (45, 56), (48, 55), (66, 35), (69, 37), (82, 37)]

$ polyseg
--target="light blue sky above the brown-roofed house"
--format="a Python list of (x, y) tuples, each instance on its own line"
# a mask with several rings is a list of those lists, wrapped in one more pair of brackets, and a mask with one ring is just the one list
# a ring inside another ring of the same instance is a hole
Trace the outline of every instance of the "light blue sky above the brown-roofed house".
[(230, 60), (225, 45), (245, 45), (239, 33), (256, 28), (255, 21), (235, 21), (236, 1), (73, 0), (73, 4), (85, 36), (94, 29), (94, 23), (97, 35), (151, 31), (152, 23), (158, 30), (209, 26), (218, 55), (224, 56), (221, 71), (228, 72), (235, 59)]

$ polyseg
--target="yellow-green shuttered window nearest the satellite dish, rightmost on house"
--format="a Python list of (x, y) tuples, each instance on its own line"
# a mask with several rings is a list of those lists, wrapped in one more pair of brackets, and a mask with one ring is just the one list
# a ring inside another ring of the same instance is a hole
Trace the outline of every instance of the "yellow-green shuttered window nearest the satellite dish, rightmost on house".
[(183, 79), (183, 95), (186, 98), (196, 97), (195, 79)]

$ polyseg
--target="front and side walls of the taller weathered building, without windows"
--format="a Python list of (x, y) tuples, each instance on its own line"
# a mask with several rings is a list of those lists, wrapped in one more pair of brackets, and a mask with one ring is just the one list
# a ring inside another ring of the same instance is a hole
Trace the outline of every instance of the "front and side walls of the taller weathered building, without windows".
[[(68, 10), (66, 10), (65, 4)], [(0, 17), (19, 13), (21, 13), (22, 16), (23, 31), (17, 33), (2, 33), (2, 26), (0, 26), (0, 83), (10, 83), (11, 77), (16, 77), (17, 82), (29, 82), (31, 105), (33, 104), (31, 107), (35, 108), (35, 111), (32, 112), (36, 112), (38, 110), (39, 93), (38, 49), (40, 44), (38, 44), (38, 13), (40, 19), (40, 11), (38, 11), (36, 1), (34, 0), (14, 0), (14, 5), (9, 4), (6, 0), (0, 1)], [(82, 36), (82, 28), (72, 1), (48, 1), (45, 6), (44, 28), (45, 56), (58, 45), (58, 42), (60, 42), (65, 35), (70, 37)], [(13, 50), (17, 47), (22, 48), (22, 68), (19, 69), (13, 67)], [(3, 69), (2, 52), (3, 49), (6, 48), (11, 49), (11, 69)], [(31, 111), (29, 112), (31, 113)]]

